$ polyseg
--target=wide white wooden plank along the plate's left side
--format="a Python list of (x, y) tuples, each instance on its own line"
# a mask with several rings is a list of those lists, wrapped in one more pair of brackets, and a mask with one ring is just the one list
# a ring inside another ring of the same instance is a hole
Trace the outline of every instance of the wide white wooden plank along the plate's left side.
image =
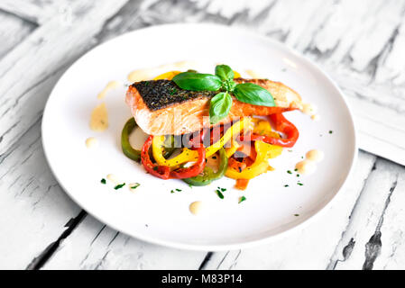
[(72, 26), (50, 20), (0, 61), (0, 189), (6, 192), (0, 194), (0, 234), (7, 235), (0, 239), (1, 268), (30, 266), (80, 211), (46, 164), (40, 120), (51, 87), (64, 69), (124, 5), (124, 1), (88, 3), (71, 6)]

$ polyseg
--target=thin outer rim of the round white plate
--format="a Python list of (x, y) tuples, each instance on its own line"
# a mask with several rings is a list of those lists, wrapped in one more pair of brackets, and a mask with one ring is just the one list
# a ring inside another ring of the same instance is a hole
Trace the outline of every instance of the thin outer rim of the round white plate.
[[(241, 31), (241, 32), (244, 32), (244, 33), (249, 33), (249, 34), (251, 34), (252, 37), (254, 37), (254, 38), (258, 39), (258, 40), (266, 41), (270, 45), (273, 45), (278, 49), (287, 50), (289, 53), (291, 53), (292, 55), (294, 55), (295, 57), (297, 57), (301, 61), (303, 61), (304, 64), (309, 65), (309, 67), (312, 67), (312, 68), (315, 68), (316, 70), (318, 70), (318, 72), (320, 74), (325, 76), (327, 81), (329, 81), (330, 85), (332, 85), (336, 89), (336, 92), (338, 92), (338, 94), (340, 94), (340, 97), (343, 100), (343, 103), (345, 104), (345, 108), (347, 109), (347, 112), (348, 112), (348, 114), (350, 116), (350, 124), (351, 124), (353, 132), (354, 132), (353, 133), (354, 153), (351, 156), (350, 168), (348, 169), (348, 172), (345, 175), (345, 180), (340, 185), (340, 187), (337, 189), (336, 193), (332, 196), (332, 198), (330, 200), (328, 200), (328, 202), (323, 204), (323, 206), (320, 209), (318, 209), (318, 211), (316, 211), (314, 214), (309, 216), (306, 220), (303, 220), (302, 222), (298, 223), (296, 226), (293, 226), (293, 227), (290, 227), (289, 229), (278, 232), (277, 234), (266, 236), (266, 237), (259, 238), (259, 239), (245, 240), (245, 241), (241, 241), (240, 243), (234, 243), (234, 244), (217, 244), (217, 245), (201, 245), (201, 244), (179, 243), (179, 242), (176, 242), (176, 241), (173, 241), (173, 240), (164, 240), (164, 239), (161, 239), (161, 238), (155, 238), (155, 237), (148, 236), (148, 235), (145, 235), (144, 233), (140, 233), (140, 232), (133, 233), (133, 232), (128, 231), (126, 229), (118, 229), (115, 226), (115, 224), (111, 224), (109, 220), (105, 220), (102, 216), (95, 215), (91, 211), (87, 211), (87, 206), (88, 205), (86, 203), (83, 203), (80, 200), (78, 200), (78, 198), (74, 196), (74, 193), (69, 193), (69, 190), (64, 187), (64, 185), (60, 181), (60, 178), (58, 177), (57, 173), (55, 172), (56, 170), (51, 165), (50, 157), (49, 157), (48, 152), (47, 152), (47, 150), (48, 150), (47, 145), (46, 145), (46, 142), (44, 140), (45, 138), (43, 137), (43, 135), (46, 134), (46, 133), (44, 133), (44, 130), (45, 130), (44, 129), (44, 127), (45, 127), (44, 123), (46, 121), (43, 121), (43, 120), (46, 119), (46, 115), (48, 114), (47, 112), (50, 109), (49, 108), (50, 99), (51, 99), (52, 95), (55, 94), (55, 90), (57, 89), (58, 85), (60, 85), (60, 80), (63, 78), (63, 76), (65, 76), (65, 74), (68, 73), (68, 71), (73, 66), (75, 66), (81, 59), (87, 57), (87, 55), (89, 53), (94, 52), (96, 49), (100, 49), (101, 47), (105, 46), (106, 44), (110, 43), (111, 41), (115, 41), (115, 40), (118, 40), (118, 39), (129, 37), (129, 35), (135, 34), (135, 33), (139, 32), (139, 31), (159, 30), (161, 28), (167, 28), (167, 27), (177, 28), (177, 27), (184, 27), (184, 26), (198, 26), (198, 27), (203, 27), (205, 29), (219, 28), (219, 29), (226, 29), (226, 30)], [(292, 49), (292, 48), (286, 46), (285, 44), (281, 43), (280, 41), (273, 40), (270, 37), (267, 37), (267, 36), (262, 35), (262, 34), (256, 32), (256, 31), (252, 31), (252, 30), (250, 30), (248, 28), (244, 28), (244, 27), (232, 27), (232, 26), (226, 26), (226, 25), (216, 24), (216, 23), (165, 23), (165, 24), (153, 25), (153, 26), (150, 26), (150, 27), (144, 27), (144, 28), (141, 28), (141, 29), (124, 32), (121, 35), (118, 35), (118, 36), (116, 36), (116, 37), (114, 37), (112, 39), (106, 40), (105, 42), (102, 42), (102, 43), (98, 44), (97, 46), (93, 47), (92, 49), (89, 49), (86, 53), (84, 53), (82, 56), (80, 56), (78, 59), (76, 59), (69, 66), (69, 68), (66, 69), (66, 71), (63, 73), (63, 75), (60, 76), (57, 83), (53, 86), (53, 88), (51, 90), (51, 93), (48, 96), (48, 99), (47, 99), (47, 101), (45, 103), (44, 110), (43, 110), (43, 113), (42, 113), (42, 118), (41, 118), (41, 144), (42, 144), (44, 156), (46, 158), (46, 162), (48, 163), (48, 166), (50, 167), (52, 175), (55, 177), (58, 184), (60, 185), (60, 188), (65, 193), (67, 193), (69, 195), (69, 198), (73, 202), (78, 204), (78, 206), (81, 209), (87, 211), (87, 213), (89, 215), (91, 215), (95, 219), (101, 221), (102, 223), (106, 224), (108, 227), (110, 227), (112, 229), (115, 229), (115, 230), (119, 231), (120, 233), (124, 233), (125, 235), (128, 235), (130, 237), (137, 238), (137, 239), (140, 239), (142, 241), (149, 242), (149, 243), (156, 244), (156, 245), (160, 245), (160, 246), (163, 246), (163, 247), (173, 247), (173, 248), (194, 250), (194, 251), (225, 251), (225, 250), (235, 250), (235, 249), (241, 249), (241, 248), (247, 248), (247, 247), (256, 247), (256, 246), (263, 245), (263, 244), (266, 244), (266, 243), (271, 243), (272, 241), (274, 241), (274, 240), (276, 240), (278, 238), (288, 236), (293, 231), (296, 231), (298, 229), (304, 229), (312, 221), (318, 219), (318, 217), (321, 214), (325, 213), (327, 211), (327, 208), (330, 207), (331, 203), (336, 202), (337, 197), (342, 196), (342, 190), (345, 189), (345, 186), (347, 184), (347, 180), (349, 179), (350, 175), (353, 175), (354, 166), (355, 166), (355, 163), (356, 163), (357, 157), (358, 157), (357, 129), (356, 129), (356, 125), (355, 125), (355, 122), (354, 122), (354, 116), (353, 115), (354, 115), (353, 110), (352, 110), (350, 104), (347, 102), (345, 94), (340, 89), (340, 87), (336, 84), (336, 81), (334, 79), (332, 79), (331, 76), (329, 76), (325, 72), (325, 70), (322, 69), (321, 67), (319, 67), (318, 64), (316, 64), (312, 59), (307, 58), (305, 55), (303, 55), (298, 50)]]

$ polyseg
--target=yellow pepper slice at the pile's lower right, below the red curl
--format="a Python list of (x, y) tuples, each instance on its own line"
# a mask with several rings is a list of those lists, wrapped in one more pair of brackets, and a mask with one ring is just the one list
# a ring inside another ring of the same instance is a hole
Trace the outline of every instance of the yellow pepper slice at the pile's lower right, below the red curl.
[(272, 169), (268, 160), (277, 157), (281, 154), (282, 148), (271, 144), (264, 143), (263, 141), (254, 141), (254, 148), (256, 149), (257, 156), (251, 166), (244, 168), (242, 172), (238, 172), (234, 168), (228, 167), (226, 176), (233, 179), (253, 179)]

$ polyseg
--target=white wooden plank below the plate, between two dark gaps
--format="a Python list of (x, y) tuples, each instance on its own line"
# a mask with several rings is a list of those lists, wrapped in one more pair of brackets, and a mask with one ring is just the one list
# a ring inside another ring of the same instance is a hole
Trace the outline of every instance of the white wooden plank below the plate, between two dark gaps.
[(43, 269), (198, 269), (205, 255), (146, 243), (87, 216)]

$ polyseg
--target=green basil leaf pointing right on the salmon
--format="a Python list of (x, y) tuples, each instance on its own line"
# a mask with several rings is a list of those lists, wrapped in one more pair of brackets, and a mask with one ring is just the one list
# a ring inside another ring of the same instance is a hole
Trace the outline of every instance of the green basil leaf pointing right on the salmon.
[(240, 102), (267, 107), (274, 107), (276, 105), (269, 91), (253, 83), (236, 85), (234, 94)]

